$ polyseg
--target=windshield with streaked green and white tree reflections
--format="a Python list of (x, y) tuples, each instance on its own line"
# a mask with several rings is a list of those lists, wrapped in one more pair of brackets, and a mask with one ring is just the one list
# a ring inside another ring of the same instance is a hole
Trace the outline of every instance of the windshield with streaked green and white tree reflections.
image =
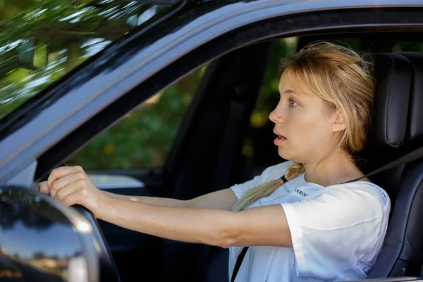
[(0, 1), (0, 120), (111, 42), (171, 8), (147, 2)]

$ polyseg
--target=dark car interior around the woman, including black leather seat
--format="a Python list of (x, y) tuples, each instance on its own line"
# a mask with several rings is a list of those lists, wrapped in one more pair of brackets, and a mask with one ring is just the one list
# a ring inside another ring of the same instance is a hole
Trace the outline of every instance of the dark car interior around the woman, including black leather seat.
[[(420, 147), (423, 45), (416, 41), (416, 35), (303, 35), (296, 37), (294, 49), (319, 39), (347, 42), (359, 51), (369, 52), (374, 60), (374, 120), (362, 152), (365, 161), (360, 161), (363, 172), (369, 173)], [(257, 107), (270, 113), (278, 101), (277, 92), (266, 99), (260, 94), (264, 81), (277, 77), (281, 40), (288, 39), (250, 44), (207, 63), (163, 167), (87, 173), (131, 176), (145, 184), (144, 188), (105, 188), (108, 192), (189, 200), (243, 183), (267, 166), (284, 161), (272, 144), (273, 124), (262, 122), (262, 126), (255, 127), (252, 122)], [(388, 192), (392, 207), (384, 247), (369, 278), (420, 274), (422, 171), (423, 161), (417, 160), (370, 177)], [(228, 279), (227, 249), (156, 238), (104, 221), (99, 221), (99, 228), (113, 257), (110, 263), (116, 264), (122, 281), (130, 281), (133, 276), (155, 281)], [(109, 274), (102, 276), (116, 281)]]

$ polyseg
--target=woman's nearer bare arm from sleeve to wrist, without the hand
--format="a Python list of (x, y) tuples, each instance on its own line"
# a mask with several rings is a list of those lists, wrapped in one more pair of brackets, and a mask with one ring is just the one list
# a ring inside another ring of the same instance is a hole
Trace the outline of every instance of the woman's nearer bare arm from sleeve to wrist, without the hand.
[(281, 205), (243, 212), (164, 207), (108, 197), (94, 215), (123, 228), (188, 243), (219, 247), (292, 247)]

